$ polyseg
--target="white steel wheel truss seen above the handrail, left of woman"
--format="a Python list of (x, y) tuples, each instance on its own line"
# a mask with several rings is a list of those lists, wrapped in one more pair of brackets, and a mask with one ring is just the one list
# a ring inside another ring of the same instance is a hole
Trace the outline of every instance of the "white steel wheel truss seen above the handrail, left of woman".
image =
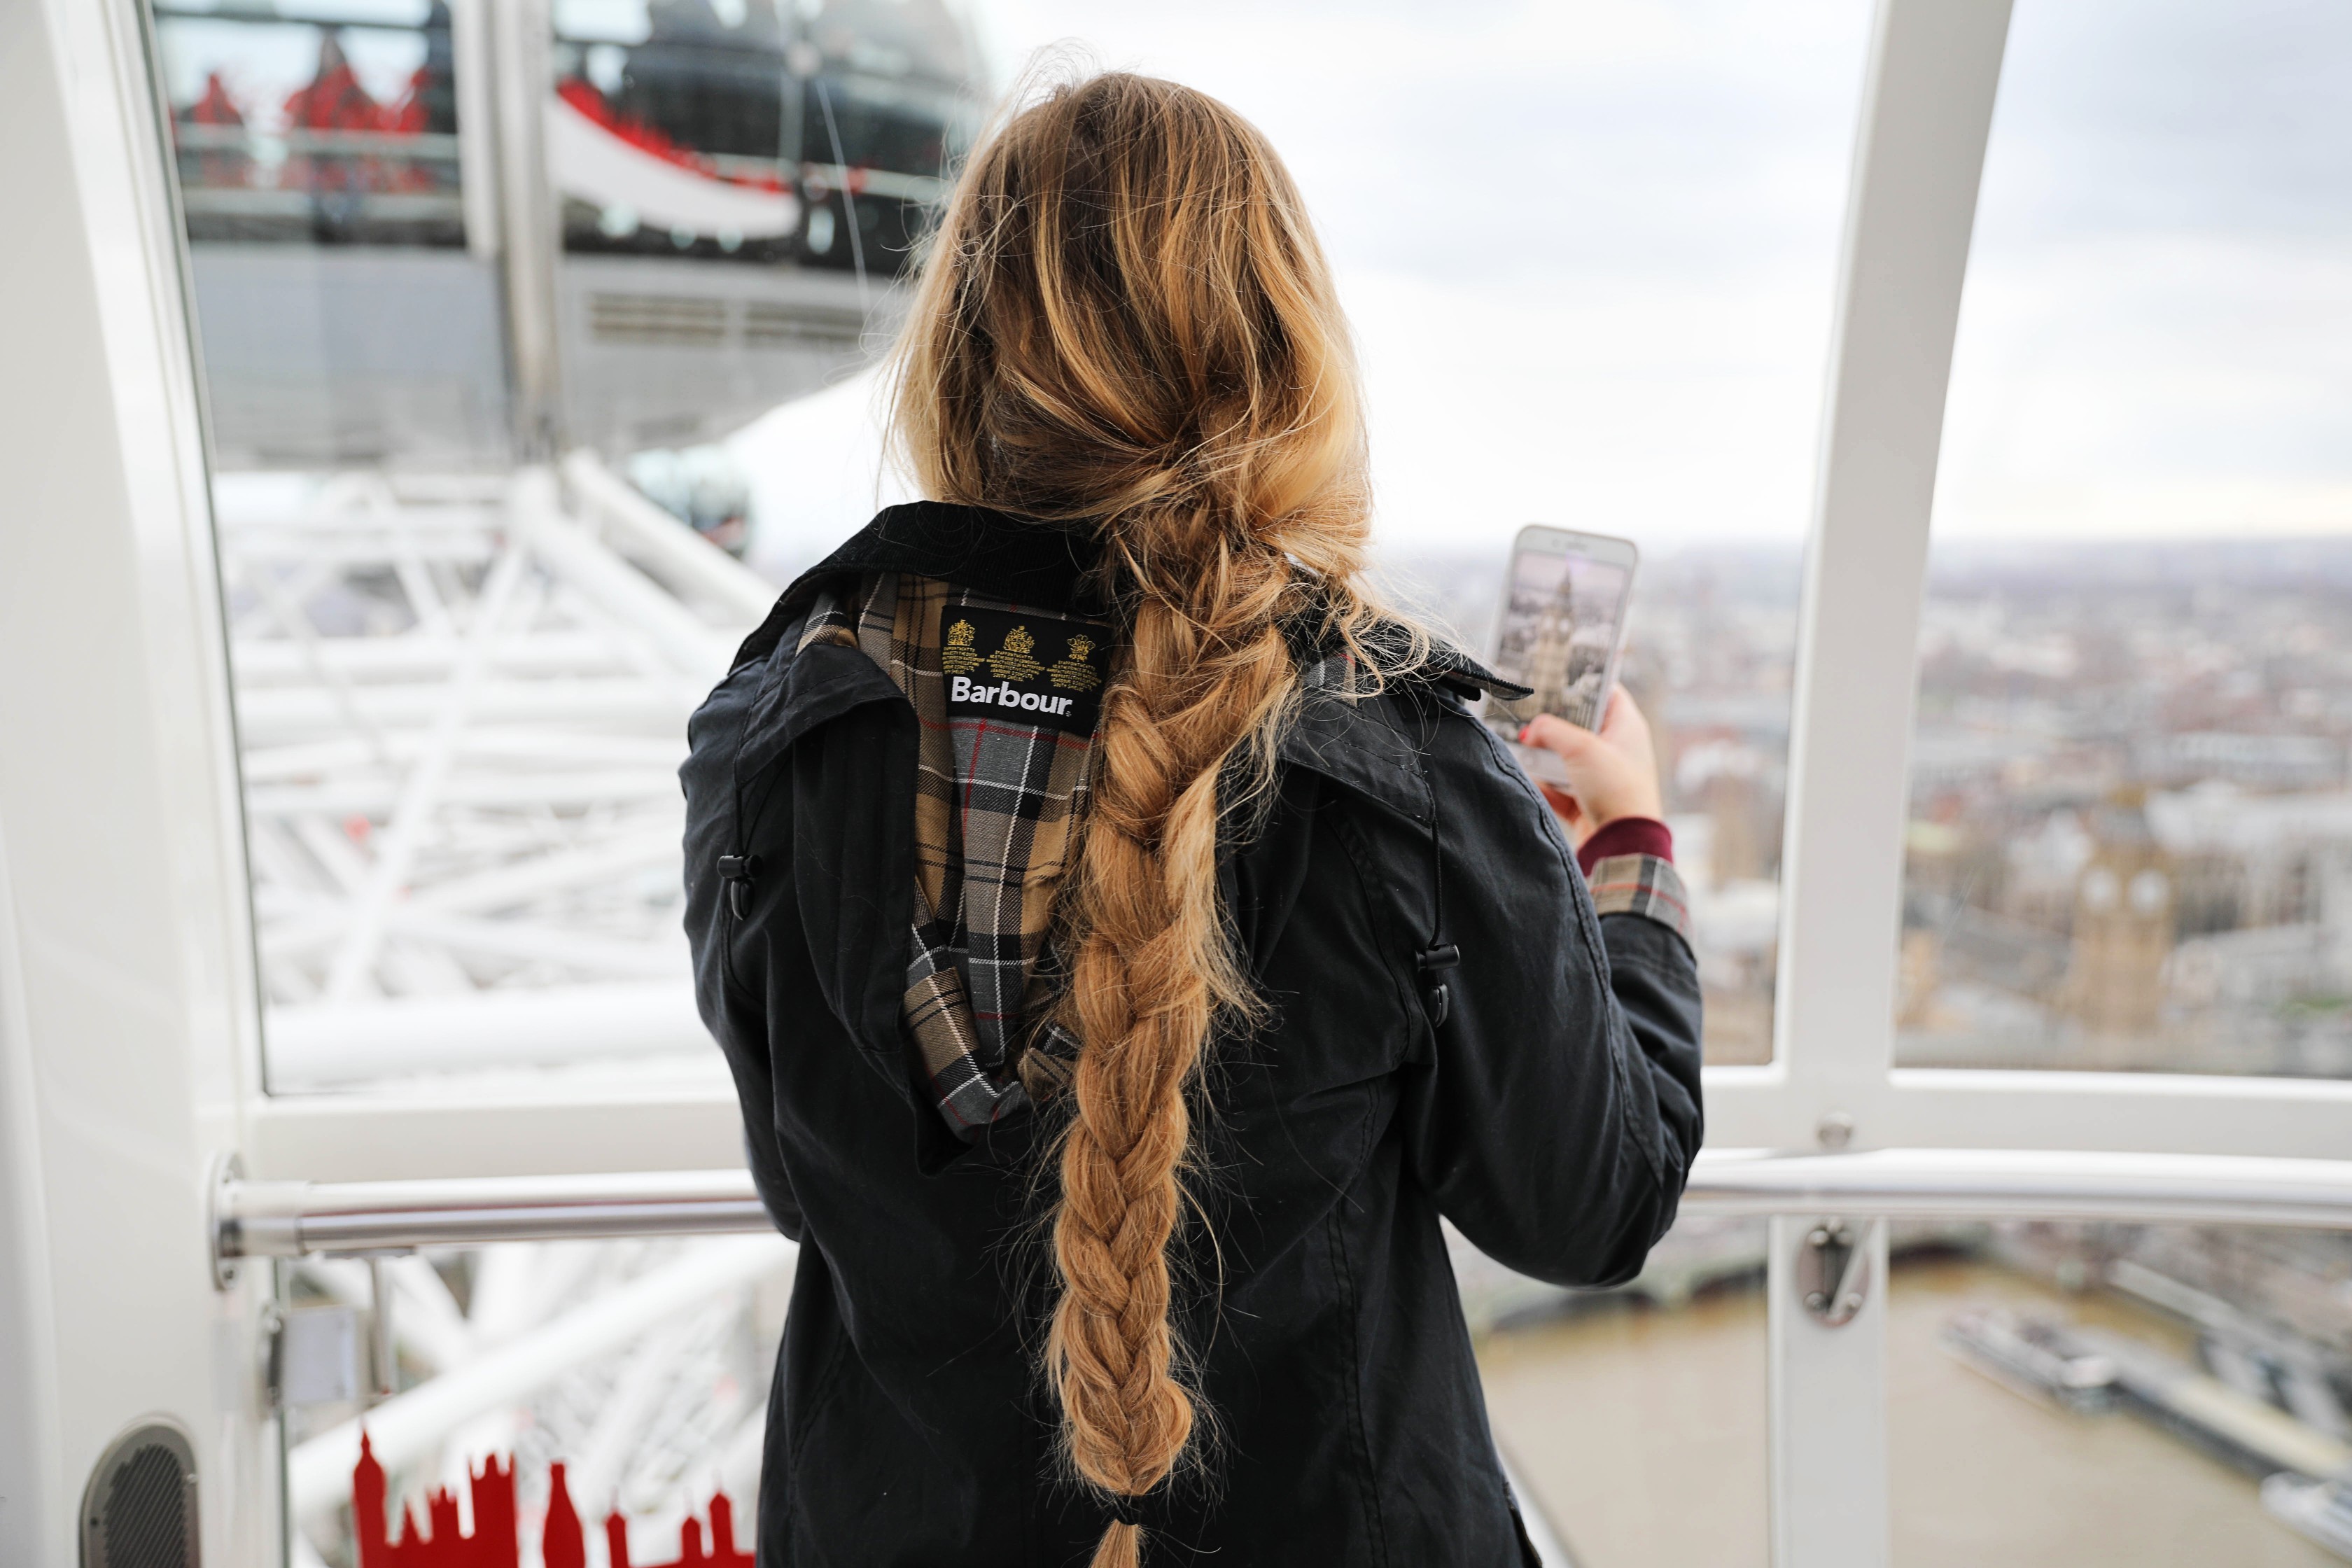
[(715, 1067), (677, 764), (774, 588), (586, 454), (216, 512), (270, 1088)]

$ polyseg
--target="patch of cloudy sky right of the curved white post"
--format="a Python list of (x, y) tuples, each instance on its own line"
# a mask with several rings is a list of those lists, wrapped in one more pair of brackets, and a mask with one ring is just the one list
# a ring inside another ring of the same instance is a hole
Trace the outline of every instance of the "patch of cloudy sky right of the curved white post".
[(2020, 0), (1940, 534), (2352, 531), (2352, 7)]

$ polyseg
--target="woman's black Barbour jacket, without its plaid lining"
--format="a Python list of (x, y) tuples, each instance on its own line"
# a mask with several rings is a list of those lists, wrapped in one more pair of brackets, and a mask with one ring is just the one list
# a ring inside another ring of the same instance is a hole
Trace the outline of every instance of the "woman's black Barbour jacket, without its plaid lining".
[[(957, 1140), (898, 1020), (913, 708), (861, 651), (788, 635), (863, 571), (1068, 611), (1089, 559), (1082, 534), (889, 508), (779, 599), (694, 715), (696, 990), (760, 1194), (802, 1244), (762, 1568), (1063, 1568), (1108, 1521), (1056, 1467), (1037, 1378), (1033, 1124), (1051, 1107)], [(1204, 1074), (1178, 1300), (1214, 1425), (1207, 1462), (1134, 1505), (1155, 1568), (1534, 1561), (1439, 1215), (1573, 1286), (1632, 1276), (1675, 1218), (1700, 1140), (1691, 950), (1595, 917), (1552, 813), (1463, 708), (1482, 684), (1449, 656), (1435, 679), (1310, 705), (1268, 816), (1225, 853), (1272, 1018), (1216, 1041)], [(1458, 959), (1432, 1025), (1416, 957), (1437, 945)]]

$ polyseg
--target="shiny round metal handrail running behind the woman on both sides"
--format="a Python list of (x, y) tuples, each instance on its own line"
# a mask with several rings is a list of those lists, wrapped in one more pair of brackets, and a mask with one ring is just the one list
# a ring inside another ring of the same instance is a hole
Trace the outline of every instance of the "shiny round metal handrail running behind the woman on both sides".
[[(2049, 1150), (1708, 1150), (1686, 1215), (2133, 1220), (2352, 1229), (2352, 1159)], [(769, 1229), (746, 1171), (259, 1182), (223, 1178), (214, 1255)]]

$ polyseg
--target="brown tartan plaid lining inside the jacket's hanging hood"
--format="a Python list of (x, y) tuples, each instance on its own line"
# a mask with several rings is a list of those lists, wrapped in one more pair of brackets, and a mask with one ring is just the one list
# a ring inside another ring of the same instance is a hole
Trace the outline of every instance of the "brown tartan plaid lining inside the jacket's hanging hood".
[(948, 609), (1073, 618), (882, 571), (821, 595), (800, 646), (863, 651), (915, 708), (915, 924), (901, 1018), (941, 1114), (971, 1140), (1051, 1095), (1077, 1058), (1077, 1039), (1049, 1018), (1061, 992), (1051, 922), (1094, 738), (1011, 717), (950, 719)]

